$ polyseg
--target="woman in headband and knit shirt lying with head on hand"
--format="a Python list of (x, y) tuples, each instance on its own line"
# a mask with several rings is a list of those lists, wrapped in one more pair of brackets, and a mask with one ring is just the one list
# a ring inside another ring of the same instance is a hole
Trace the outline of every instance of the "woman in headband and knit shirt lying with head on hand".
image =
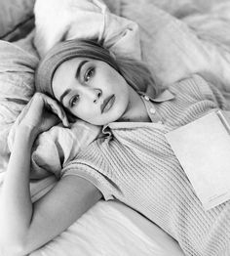
[[(16, 132), (1, 196), (6, 255), (42, 246), (101, 197), (143, 214), (186, 255), (230, 252), (230, 202), (205, 211), (165, 138), (212, 109), (229, 109), (212, 84), (193, 75), (160, 89), (144, 64), (94, 41), (72, 40), (41, 61), (36, 86)], [(59, 119), (68, 127), (69, 113), (101, 126), (101, 135), (64, 166), (58, 185), (32, 204), (33, 142)]]

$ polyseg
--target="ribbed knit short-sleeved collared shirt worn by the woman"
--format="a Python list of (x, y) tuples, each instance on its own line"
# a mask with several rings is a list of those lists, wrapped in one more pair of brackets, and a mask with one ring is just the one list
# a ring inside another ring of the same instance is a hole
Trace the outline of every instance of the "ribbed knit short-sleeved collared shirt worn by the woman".
[[(176, 239), (186, 255), (230, 255), (230, 201), (205, 211), (165, 134), (216, 108), (221, 93), (194, 75), (174, 83), (168, 100), (145, 97), (152, 122), (114, 122), (104, 138), (62, 170), (92, 182), (105, 199), (118, 199)], [(154, 121), (156, 120), (156, 121)]]

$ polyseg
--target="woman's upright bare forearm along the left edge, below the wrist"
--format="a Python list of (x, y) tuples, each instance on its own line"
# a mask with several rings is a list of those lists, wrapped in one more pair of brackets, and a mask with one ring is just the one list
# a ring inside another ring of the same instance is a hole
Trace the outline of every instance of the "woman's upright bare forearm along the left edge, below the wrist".
[(19, 127), (0, 197), (0, 241), (4, 246), (21, 244), (32, 217), (29, 191), (30, 154), (35, 135)]

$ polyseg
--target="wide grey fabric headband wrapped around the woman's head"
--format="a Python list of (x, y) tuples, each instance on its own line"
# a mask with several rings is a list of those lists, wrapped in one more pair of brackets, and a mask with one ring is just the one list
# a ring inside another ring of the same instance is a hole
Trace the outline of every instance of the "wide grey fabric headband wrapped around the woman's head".
[(114, 56), (106, 48), (92, 40), (74, 39), (55, 45), (40, 61), (35, 72), (35, 87), (54, 97), (52, 79), (58, 66), (73, 58), (89, 58), (105, 62), (119, 71)]

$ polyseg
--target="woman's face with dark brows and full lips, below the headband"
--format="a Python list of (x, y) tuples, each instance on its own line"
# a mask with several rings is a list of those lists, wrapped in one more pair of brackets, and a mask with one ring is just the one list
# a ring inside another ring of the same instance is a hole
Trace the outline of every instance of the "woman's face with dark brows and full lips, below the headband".
[(121, 119), (129, 108), (133, 90), (109, 64), (80, 58), (60, 64), (52, 86), (62, 106), (96, 125)]

